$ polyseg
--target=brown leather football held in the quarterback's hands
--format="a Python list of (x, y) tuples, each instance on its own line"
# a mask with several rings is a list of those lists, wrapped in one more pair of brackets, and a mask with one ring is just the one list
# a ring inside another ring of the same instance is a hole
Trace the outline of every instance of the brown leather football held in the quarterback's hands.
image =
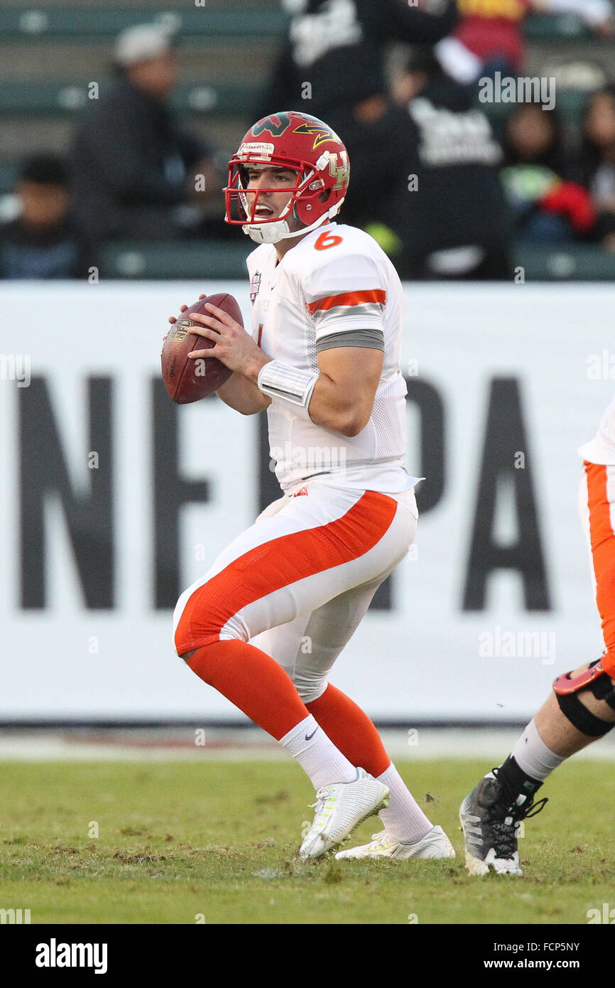
[(189, 360), (188, 355), (192, 350), (209, 350), (215, 346), (213, 340), (200, 335), (201, 326), (191, 319), (193, 312), (210, 315), (205, 309), (206, 302), (224, 309), (240, 325), (244, 324), (236, 299), (226, 292), (201, 298), (178, 316), (177, 322), (167, 334), (161, 355), (165, 387), (178, 405), (188, 405), (192, 401), (206, 398), (232, 373), (214, 357)]

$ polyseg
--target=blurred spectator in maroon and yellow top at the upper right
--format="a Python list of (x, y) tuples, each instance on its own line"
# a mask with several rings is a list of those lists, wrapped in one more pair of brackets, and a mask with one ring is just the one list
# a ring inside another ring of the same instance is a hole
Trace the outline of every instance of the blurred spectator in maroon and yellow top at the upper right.
[(596, 34), (613, 35), (610, 0), (458, 0), (461, 20), (437, 46), (444, 68), (459, 82), (500, 71), (516, 75), (523, 66), (523, 21), (528, 14), (576, 14)]

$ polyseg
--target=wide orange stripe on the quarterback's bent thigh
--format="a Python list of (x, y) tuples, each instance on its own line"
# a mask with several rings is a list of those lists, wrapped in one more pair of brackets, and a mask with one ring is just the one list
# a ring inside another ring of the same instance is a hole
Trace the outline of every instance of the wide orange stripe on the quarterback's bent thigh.
[(178, 655), (218, 641), (230, 618), (249, 604), (368, 552), (396, 511), (393, 498), (365, 491), (335, 522), (273, 538), (234, 559), (190, 597), (176, 630)]

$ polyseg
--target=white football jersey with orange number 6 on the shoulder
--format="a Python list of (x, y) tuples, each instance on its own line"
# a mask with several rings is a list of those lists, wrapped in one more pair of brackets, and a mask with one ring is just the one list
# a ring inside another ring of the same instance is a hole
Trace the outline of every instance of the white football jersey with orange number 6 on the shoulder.
[(279, 263), (275, 247), (262, 244), (247, 264), (253, 336), (269, 357), (318, 372), (322, 350), (384, 352), (372, 413), (356, 436), (316, 425), (285, 398), (271, 399), (269, 453), (282, 489), (294, 493), (315, 476), (333, 486), (382, 493), (413, 487), (420, 478), (404, 465), (404, 292), (384, 251), (362, 230), (330, 222), (308, 233)]

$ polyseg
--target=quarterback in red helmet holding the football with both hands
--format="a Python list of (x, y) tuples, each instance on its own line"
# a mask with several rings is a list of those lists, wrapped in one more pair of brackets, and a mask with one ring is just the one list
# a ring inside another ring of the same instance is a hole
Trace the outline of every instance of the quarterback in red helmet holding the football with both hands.
[(380, 814), (384, 830), (339, 857), (446, 858), (448, 838), (371, 720), (329, 683), (418, 519), (419, 478), (404, 466), (403, 291), (375, 241), (334, 222), (348, 177), (338, 135), (295, 112), (254, 124), (229, 162), (226, 222), (259, 244), (248, 258), (252, 334), (209, 305), (192, 319), (215, 345), (191, 357), (233, 371), (217, 393), (236, 411), (267, 409), (282, 496), (182, 594), (174, 644), (313, 783), (303, 857)]

